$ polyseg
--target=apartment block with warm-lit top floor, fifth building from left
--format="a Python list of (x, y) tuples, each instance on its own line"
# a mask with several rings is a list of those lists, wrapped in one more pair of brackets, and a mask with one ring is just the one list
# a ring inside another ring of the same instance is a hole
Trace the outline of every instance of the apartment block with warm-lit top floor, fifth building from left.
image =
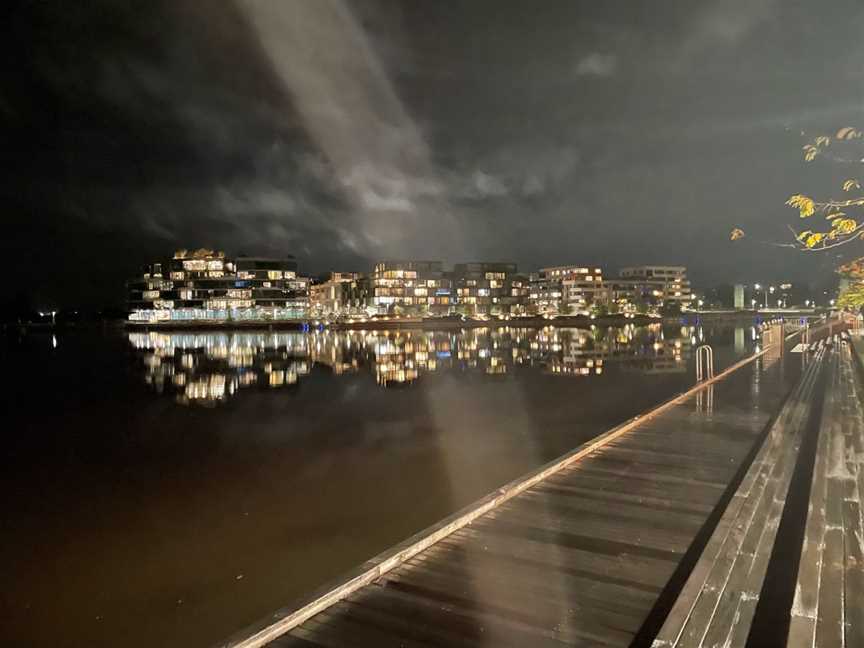
[(605, 301), (603, 270), (597, 267), (556, 266), (531, 275), (529, 301), (539, 313), (587, 314)]

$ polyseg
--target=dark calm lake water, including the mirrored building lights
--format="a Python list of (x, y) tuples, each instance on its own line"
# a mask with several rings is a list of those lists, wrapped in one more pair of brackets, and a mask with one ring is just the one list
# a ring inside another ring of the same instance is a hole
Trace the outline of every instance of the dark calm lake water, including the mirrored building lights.
[(681, 326), (0, 338), (0, 643), (205, 647), (694, 382)]

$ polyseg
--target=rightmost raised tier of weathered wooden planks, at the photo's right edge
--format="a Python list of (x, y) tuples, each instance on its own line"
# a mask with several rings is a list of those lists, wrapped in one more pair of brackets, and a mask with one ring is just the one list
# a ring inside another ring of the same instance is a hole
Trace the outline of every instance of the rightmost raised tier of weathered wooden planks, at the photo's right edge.
[(791, 611), (795, 648), (864, 646), (864, 393), (850, 347), (831, 360)]

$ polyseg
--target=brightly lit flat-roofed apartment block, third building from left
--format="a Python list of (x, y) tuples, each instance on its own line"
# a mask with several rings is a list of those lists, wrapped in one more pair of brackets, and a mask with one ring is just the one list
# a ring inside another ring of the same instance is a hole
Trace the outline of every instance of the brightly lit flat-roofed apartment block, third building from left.
[(381, 261), (375, 264), (371, 284), (372, 305), (379, 313), (450, 312), (452, 284), (440, 261)]

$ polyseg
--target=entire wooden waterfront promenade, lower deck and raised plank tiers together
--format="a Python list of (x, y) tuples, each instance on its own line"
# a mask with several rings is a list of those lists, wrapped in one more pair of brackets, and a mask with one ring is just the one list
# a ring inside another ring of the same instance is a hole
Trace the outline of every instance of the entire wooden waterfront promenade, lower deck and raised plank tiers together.
[(223, 645), (864, 645), (860, 377), (835, 339), (775, 345)]

